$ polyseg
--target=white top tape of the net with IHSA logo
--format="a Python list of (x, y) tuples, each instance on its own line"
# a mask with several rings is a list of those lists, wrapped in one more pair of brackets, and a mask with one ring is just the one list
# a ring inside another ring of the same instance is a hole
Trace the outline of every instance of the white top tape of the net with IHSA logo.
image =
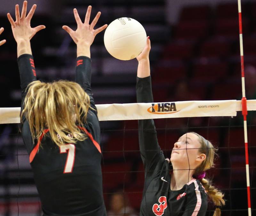
[[(195, 100), (160, 103), (96, 105), (100, 121), (156, 118), (236, 116), (241, 100)], [(256, 100), (247, 100), (247, 110), (256, 110)], [(20, 123), (20, 107), (0, 108), (0, 124)]]

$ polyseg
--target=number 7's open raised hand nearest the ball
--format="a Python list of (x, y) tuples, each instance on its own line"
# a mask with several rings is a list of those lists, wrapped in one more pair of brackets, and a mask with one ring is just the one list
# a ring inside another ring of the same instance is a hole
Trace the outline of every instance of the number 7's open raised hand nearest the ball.
[(73, 41), (78, 44), (84, 44), (87, 46), (91, 46), (95, 36), (103, 31), (105, 28), (107, 28), (107, 24), (101, 26), (100, 28), (93, 29), (95, 25), (97, 24), (99, 18), (100, 18), (100, 12), (97, 13), (95, 18), (92, 20), (92, 23), (89, 24), (90, 16), (91, 16), (92, 6), (88, 6), (87, 12), (85, 15), (84, 23), (81, 21), (78, 12), (76, 8), (74, 9), (74, 16), (77, 23), (77, 29), (76, 31), (72, 30), (68, 26), (63, 26), (62, 28), (68, 32), (68, 34), (71, 36)]

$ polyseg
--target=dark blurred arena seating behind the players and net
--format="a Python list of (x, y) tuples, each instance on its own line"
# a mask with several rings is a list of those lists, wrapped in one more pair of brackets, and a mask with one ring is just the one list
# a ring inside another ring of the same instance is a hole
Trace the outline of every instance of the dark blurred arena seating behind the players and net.
[[(6, 13), (15, 4), (1, 0), (0, 107), (20, 107), (20, 79), (16, 43)], [(45, 25), (31, 40), (37, 77), (43, 81), (74, 80), (76, 46), (61, 28), (75, 30), (73, 8), (84, 19), (88, 5), (92, 17), (102, 12), (99, 27), (120, 17), (138, 20), (151, 40), (151, 74), (155, 102), (241, 99), (241, 66), (237, 1), (225, 0), (65, 0), (29, 1), (37, 4), (32, 27)], [(256, 99), (256, 1), (242, 0), (244, 65), (247, 99)], [(116, 60), (103, 44), (104, 32), (91, 47), (92, 90), (96, 104), (136, 102), (137, 60)], [(216, 167), (208, 171), (225, 193), (223, 215), (247, 215), (244, 132), (241, 113), (234, 118), (176, 118), (156, 120), (161, 148), (170, 156), (182, 133), (195, 131), (219, 148)], [(252, 209), (255, 215), (256, 118), (248, 115), (249, 165)], [(108, 208), (118, 190), (127, 205), (139, 212), (144, 182), (138, 148), (137, 121), (101, 122), (103, 188)], [(16, 124), (0, 125), (0, 215), (40, 215), (28, 155)], [(212, 215), (212, 206), (209, 212)]]

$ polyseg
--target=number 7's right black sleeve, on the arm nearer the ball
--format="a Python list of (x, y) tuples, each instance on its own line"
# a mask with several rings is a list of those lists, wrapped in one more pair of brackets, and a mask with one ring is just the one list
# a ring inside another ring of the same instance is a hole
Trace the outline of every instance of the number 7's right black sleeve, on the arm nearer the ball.
[(79, 56), (76, 59), (76, 83), (80, 84), (84, 91), (90, 97), (90, 106), (95, 109), (94, 112), (97, 115), (97, 108), (95, 106), (94, 99), (92, 97), (91, 88), (91, 64), (92, 60), (86, 56)]

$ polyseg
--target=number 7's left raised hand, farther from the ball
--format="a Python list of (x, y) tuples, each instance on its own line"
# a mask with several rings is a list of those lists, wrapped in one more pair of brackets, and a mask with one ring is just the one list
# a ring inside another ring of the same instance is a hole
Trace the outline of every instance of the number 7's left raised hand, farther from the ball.
[(22, 12), (20, 15), (20, 9), (19, 5), (16, 4), (15, 6), (15, 16), (16, 16), (16, 21), (12, 19), (12, 16), (10, 13), (7, 13), (8, 20), (10, 21), (12, 25), (12, 33), (14, 36), (14, 39), (16, 42), (20, 41), (29, 41), (38, 31), (41, 29), (45, 28), (44, 25), (37, 26), (35, 28), (31, 28), (30, 26), (30, 21), (34, 15), (34, 12), (36, 10), (36, 4), (34, 4), (29, 11), (27, 17), (27, 1), (23, 2), (23, 7), (22, 7)]

